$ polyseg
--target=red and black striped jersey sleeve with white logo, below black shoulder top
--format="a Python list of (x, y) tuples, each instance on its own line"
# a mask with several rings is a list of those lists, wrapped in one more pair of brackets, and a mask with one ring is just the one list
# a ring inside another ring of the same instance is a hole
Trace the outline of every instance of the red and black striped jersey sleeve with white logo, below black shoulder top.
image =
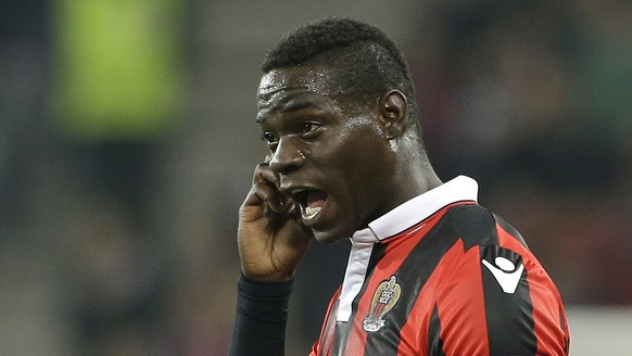
[(437, 355), (568, 355), (559, 293), (531, 252), (498, 229), (498, 243), (455, 246), (429, 330)]

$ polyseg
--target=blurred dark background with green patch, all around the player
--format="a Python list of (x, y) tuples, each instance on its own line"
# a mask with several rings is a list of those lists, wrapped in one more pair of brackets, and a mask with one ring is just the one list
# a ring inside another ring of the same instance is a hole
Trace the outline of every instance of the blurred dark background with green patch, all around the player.
[[(388, 33), (430, 157), (557, 283), (572, 355), (631, 355), (628, 0), (0, 0), (0, 354), (226, 355), (266, 51), (327, 15)], [(306, 355), (349, 245), (292, 298)]]

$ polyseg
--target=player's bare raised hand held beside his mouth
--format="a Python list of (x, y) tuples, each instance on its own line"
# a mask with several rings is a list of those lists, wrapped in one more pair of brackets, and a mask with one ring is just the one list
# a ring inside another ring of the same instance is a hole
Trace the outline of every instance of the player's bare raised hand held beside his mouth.
[(253, 185), (239, 209), (237, 232), (241, 270), (261, 282), (287, 281), (294, 276), (313, 238), (296, 204), (281, 194), (278, 178), (267, 163), (260, 164)]

